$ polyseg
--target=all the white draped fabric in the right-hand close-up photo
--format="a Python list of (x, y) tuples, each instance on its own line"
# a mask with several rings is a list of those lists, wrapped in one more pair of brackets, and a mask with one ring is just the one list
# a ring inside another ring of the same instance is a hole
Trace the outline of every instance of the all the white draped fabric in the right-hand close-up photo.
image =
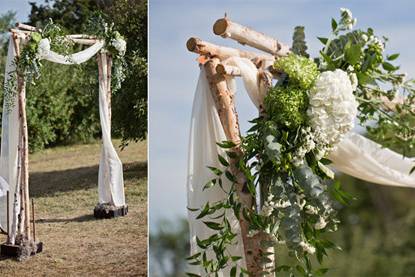
[[(251, 101), (258, 108), (263, 102), (266, 91), (260, 85), (255, 65), (248, 59), (238, 57), (224, 62), (239, 67), (245, 89)], [(235, 88), (232, 91), (235, 92)], [(206, 166), (221, 167), (217, 161), (217, 155), (221, 153), (221, 149), (218, 149), (216, 142), (226, 140), (211, 94), (206, 74), (202, 69), (193, 102), (190, 129), (187, 180), (187, 198), (190, 208), (200, 208), (207, 201), (213, 203), (226, 197), (226, 194), (219, 188), (202, 190), (206, 182), (214, 177)], [(382, 148), (379, 144), (357, 133), (350, 132), (329, 158), (333, 161), (334, 168), (353, 177), (382, 185), (415, 188), (415, 173), (409, 175), (415, 159), (403, 158), (402, 155)], [(195, 212), (188, 213), (191, 254), (199, 251), (196, 236), (206, 238), (213, 234), (213, 231), (204, 226), (201, 220), (195, 219), (196, 216)], [(238, 234), (238, 244), (232, 246), (231, 251), (243, 256), (239, 222), (232, 216), (230, 219)], [(244, 266), (245, 260), (242, 260), (240, 265)], [(193, 266), (192, 270), (198, 274), (203, 273), (203, 268), (200, 266)], [(221, 272), (222, 276), (228, 276), (228, 273), (229, 268)]]

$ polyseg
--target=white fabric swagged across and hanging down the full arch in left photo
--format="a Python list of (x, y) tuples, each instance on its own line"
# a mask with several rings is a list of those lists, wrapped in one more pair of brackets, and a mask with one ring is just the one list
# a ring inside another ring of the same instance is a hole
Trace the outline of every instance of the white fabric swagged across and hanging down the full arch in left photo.
[[(97, 54), (104, 47), (104, 42), (97, 41), (87, 49), (68, 56), (50, 51), (50, 45), (47, 39), (41, 40), (40, 47), (40, 58), (59, 64), (70, 65), (86, 62), (95, 56), (95, 54)], [(13, 40), (10, 39), (6, 62), (5, 84), (7, 84), (7, 80), (10, 78), (11, 74), (15, 73), (15, 56), (16, 52)], [(105, 72), (103, 76), (107, 76), (106, 55), (101, 55), (101, 57), (103, 61), (101, 63), (101, 70), (102, 72)], [(98, 176), (99, 203), (109, 203), (115, 206), (123, 206), (125, 205), (125, 198), (122, 163), (111, 141), (111, 119), (109, 118), (108, 101), (106, 99), (107, 91), (107, 78), (102, 78), (99, 80), (99, 113), (102, 129), (102, 150)], [(16, 178), (20, 128), (17, 93), (14, 95), (12, 102), (13, 105), (10, 111), (7, 111), (6, 109), (7, 103), (3, 103), (0, 177), (2, 177), (8, 184), (8, 189), (10, 191), (10, 211), (14, 208), (13, 217), (10, 217), (10, 235), (13, 239), (16, 234), (17, 216), (20, 211), (20, 201), (18, 199), (19, 194), (15, 193), (18, 183)], [(4, 190), (3, 187), (5, 187), (5, 185), (2, 186), (2, 183), (0, 182), (0, 191)], [(15, 203), (14, 206), (13, 203)], [(0, 227), (3, 229), (5, 229), (4, 226), (6, 226), (6, 216), (6, 199), (4, 196), (0, 195)]]

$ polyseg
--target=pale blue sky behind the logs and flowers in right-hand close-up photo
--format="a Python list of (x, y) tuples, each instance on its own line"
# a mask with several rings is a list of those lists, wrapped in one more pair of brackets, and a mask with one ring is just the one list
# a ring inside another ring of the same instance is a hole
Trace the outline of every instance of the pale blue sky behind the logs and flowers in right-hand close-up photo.
[[(162, 219), (186, 216), (187, 146), (190, 115), (199, 67), (197, 55), (186, 49), (192, 36), (215, 44), (249, 49), (215, 36), (213, 23), (228, 17), (242, 25), (291, 44), (292, 30), (304, 25), (311, 56), (328, 36), (331, 17), (339, 9), (351, 9), (357, 28), (373, 27), (390, 39), (387, 53), (400, 52), (403, 72), (415, 77), (415, 1), (169, 1), (150, 0), (149, 5), (149, 224), (155, 231)], [(252, 49), (249, 49), (252, 50)], [(237, 110), (242, 131), (256, 115), (238, 81)]]

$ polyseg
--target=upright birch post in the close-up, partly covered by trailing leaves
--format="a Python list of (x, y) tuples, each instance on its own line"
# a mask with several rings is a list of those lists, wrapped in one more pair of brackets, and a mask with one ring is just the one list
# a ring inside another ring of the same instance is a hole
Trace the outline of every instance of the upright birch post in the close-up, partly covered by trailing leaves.
[[(234, 147), (233, 151), (240, 157), (242, 154), (240, 149), (241, 141), (234, 95), (227, 87), (225, 75), (218, 73), (216, 70), (219, 63), (220, 60), (218, 58), (208, 60), (204, 65), (206, 76), (226, 137), (229, 141), (232, 141), (237, 145)], [(237, 193), (241, 204), (247, 209), (252, 209), (254, 207), (255, 199), (250, 195), (246, 188), (244, 174), (237, 169), (236, 162), (238, 157), (230, 160), (231, 172), (236, 176)], [(244, 244), (244, 256), (247, 269), (252, 276), (264, 276), (266, 271), (264, 270), (263, 261), (269, 249), (264, 248), (262, 242), (266, 238), (263, 233), (259, 233), (255, 236), (248, 236), (249, 222), (242, 215), (239, 218), (239, 224)]]

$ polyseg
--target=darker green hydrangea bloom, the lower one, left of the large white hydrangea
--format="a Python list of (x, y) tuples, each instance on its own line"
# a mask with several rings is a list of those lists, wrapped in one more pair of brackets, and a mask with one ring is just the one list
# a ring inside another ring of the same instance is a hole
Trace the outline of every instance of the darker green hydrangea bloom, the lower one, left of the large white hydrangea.
[(276, 86), (264, 99), (265, 111), (278, 125), (297, 128), (307, 120), (307, 92), (295, 85)]

